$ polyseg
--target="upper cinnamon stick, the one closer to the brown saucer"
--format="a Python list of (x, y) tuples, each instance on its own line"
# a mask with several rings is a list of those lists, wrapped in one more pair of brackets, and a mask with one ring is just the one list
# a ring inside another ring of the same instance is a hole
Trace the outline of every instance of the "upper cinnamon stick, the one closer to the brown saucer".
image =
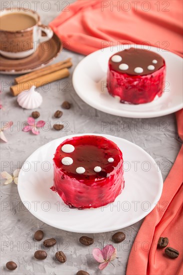
[(41, 69), (37, 69), (35, 71), (32, 71), (30, 73), (27, 74), (23, 74), (21, 76), (18, 76), (16, 78), (14, 78), (15, 83), (20, 83), (20, 82), (24, 82), (24, 81), (28, 81), (30, 79), (34, 79), (37, 78), (39, 76), (51, 73), (53, 71), (56, 70), (60, 70), (63, 68), (69, 68), (72, 66), (72, 62), (71, 62), (71, 58), (65, 59), (63, 61), (60, 61), (58, 63), (43, 67)]

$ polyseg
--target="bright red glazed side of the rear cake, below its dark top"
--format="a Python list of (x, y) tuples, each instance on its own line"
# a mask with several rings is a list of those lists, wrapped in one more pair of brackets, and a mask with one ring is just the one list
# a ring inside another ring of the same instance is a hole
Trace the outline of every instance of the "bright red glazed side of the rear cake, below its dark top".
[(107, 72), (107, 88), (112, 96), (119, 96), (121, 103), (147, 103), (164, 89), (165, 65), (147, 75), (128, 75), (110, 70)]

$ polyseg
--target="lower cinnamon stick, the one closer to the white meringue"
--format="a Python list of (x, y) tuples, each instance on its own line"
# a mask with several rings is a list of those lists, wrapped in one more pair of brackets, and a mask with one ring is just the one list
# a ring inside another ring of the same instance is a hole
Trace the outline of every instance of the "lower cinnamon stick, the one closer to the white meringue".
[(39, 87), (45, 85), (49, 82), (56, 81), (58, 79), (67, 77), (69, 75), (69, 70), (67, 68), (63, 68), (57, 71), (53, 71), (51, 73), (36, 77), (29, 81), (23, 81), (16, 85), (10, 87), (10, 90), (14, 96), (20, 93), (22, 90), (29, 89), (31, 86)]

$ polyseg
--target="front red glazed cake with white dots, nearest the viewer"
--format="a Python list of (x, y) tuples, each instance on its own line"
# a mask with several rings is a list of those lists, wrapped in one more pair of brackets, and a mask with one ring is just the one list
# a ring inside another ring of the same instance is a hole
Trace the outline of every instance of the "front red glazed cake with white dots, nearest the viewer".
[(71, 208), (96, 208), (115, 200), (124, 187), (122, 152), (97, 135), (63, 141), (53, 158), (51, 189)]

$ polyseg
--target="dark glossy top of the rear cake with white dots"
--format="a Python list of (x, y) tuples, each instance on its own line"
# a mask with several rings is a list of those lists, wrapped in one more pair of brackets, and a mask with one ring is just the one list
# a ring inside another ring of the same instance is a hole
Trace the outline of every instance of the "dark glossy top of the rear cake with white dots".
[[(112, 56), (114, 55), (121, 56), (122, 60), (119, 62), (113, 62)], [(124, 49), (122, 51), (116, 52), (112, 56), (109, 58), (110, 69), (131, 75), (150, 74), (164, 65), (164, 59), (159, 54), (150, 50), (144, 50), (139, 48), (131, 47), (129, 49)], [(120, 64), (125, 64), (120, 66), (121, 68), (125, 69), (119, 69)], [(141, 70), (143, 71), (139, 72)]]

